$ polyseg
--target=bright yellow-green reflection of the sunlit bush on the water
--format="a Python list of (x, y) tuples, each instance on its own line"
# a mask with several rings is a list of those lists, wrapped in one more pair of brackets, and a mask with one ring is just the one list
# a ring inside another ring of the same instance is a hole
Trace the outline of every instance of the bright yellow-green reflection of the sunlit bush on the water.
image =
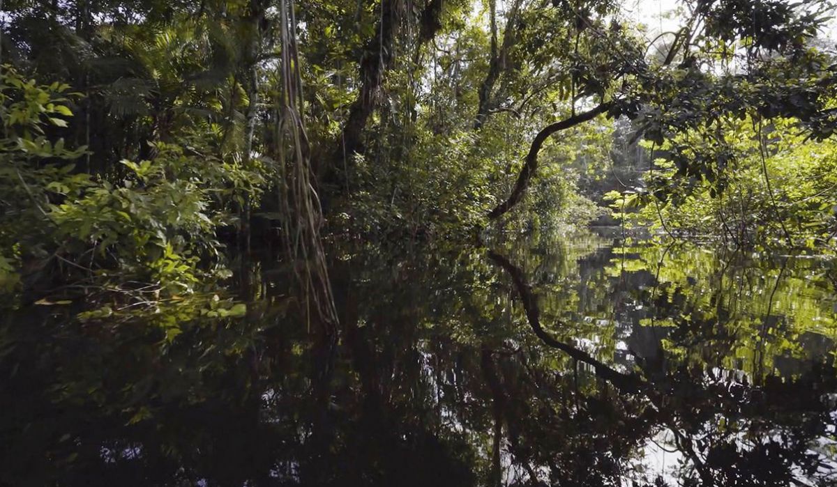
[[(648, 269), (655, 285), (639, 292), (653, 308), (644, 326), (674, 326), (665, 341), (672, 353), (688, 354), (700, 343), (701, 356), (715, 350), (725, 367), (769, 364), (771, 357), (813, 358), (800, 346), (808, 334), (837, 337), (834, 290), (826, 276), (831, 263), (821, 259), (752, 259), (728, 252), (721, 259), (693, 245), (664, 249), (639, 245), (624, 249), (608, 274)], [(709, 338), (709, 341), (706, 341)], [(762, 367), (758, 365), (758, 367)]]

